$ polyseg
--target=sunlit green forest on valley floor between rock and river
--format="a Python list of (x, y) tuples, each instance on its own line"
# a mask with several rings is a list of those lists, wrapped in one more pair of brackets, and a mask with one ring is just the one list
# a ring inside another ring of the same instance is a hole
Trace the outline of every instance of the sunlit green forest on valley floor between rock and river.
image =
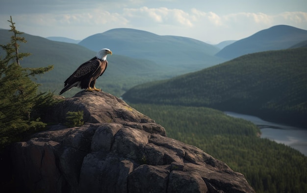
[(257, 137), (260, 130), (249, 121), (203, 107), (129, 105), (165, 127), (168, 137), (195, 145), (243, 173), (256, 193), (307, 192), (307, 157)]

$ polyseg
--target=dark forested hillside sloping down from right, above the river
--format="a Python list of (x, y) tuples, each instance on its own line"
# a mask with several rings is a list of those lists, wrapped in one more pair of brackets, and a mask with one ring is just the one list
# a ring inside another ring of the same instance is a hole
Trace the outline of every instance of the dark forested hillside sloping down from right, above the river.
[(307, 127), (307, 49), (244, 55), (196, 73), (138, 85), (133, 103), (205, 106)]

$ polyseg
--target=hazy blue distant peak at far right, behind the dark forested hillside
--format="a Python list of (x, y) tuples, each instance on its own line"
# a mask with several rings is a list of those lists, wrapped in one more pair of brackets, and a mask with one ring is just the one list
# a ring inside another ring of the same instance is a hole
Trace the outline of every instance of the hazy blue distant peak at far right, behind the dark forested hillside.
[(307, 40), (307, 30), (279, 25), (238, 40), (226, 46), (216, 56), (232, 59), (256, 52), (287, 49), (304, 40)]

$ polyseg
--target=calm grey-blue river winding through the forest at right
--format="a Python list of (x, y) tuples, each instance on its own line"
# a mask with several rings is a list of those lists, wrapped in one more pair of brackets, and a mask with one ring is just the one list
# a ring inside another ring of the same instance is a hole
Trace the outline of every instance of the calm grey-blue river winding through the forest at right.
[(225, 112), (227, 115), (251, 121), (261, 130), (261, 138), (268, 138), (283, 143), (307, 156), (307, 129), (264, 121), (256, 116)]

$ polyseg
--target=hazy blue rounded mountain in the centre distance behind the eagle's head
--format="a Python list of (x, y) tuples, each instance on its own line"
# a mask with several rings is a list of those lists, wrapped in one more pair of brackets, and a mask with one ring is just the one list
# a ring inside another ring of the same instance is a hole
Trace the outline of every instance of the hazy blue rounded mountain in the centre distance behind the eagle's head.
[(187, 37), (161, 36), (130, 28), (98, 33), (83, 39), (79, 45), (94, 51), (101, 47), (109, 48), (114, 54), (149, 59), (187, 71), (203, 69), (224, 61), (214, 56), (219, 49), (205, 42)]

